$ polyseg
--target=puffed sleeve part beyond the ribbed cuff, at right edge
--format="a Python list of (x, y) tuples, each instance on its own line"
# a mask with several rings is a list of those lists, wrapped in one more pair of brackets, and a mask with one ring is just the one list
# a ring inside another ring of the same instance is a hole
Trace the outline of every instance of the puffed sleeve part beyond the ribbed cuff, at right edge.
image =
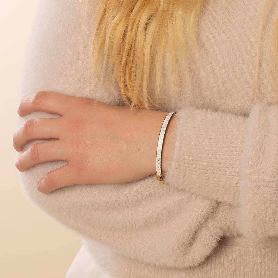
[(248, 238), (278, 235), (278, 106), (256, 103), (248, 118), (237, 225)]

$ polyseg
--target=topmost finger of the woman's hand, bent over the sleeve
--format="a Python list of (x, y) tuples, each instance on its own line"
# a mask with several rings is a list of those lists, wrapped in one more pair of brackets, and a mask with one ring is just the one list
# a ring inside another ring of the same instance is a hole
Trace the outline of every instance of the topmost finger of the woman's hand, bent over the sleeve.
[(38, 91), (23, 97), (18, 107), (18, 114), (25, 117), (32, 112), (43, 111), (63, 116), (69, 110), (71, 98), (73, 97), (61, 93)]

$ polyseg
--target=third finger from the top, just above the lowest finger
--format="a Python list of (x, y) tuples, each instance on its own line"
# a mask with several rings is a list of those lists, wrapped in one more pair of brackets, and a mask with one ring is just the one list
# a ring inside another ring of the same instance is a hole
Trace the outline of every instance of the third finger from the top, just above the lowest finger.
[(61, 140), (53, 140), (32, 145), (19, 156), (16, 166), (20, 172), (23, 172), (42, 162), (67, 159), (68, 151), (63, 147)]

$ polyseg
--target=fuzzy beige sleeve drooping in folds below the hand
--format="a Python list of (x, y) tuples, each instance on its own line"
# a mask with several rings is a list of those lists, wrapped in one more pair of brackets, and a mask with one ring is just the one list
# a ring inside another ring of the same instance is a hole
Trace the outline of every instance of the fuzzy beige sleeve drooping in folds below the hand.
[(155, 175), (40, 193), (37, 180), (62, 164), (45, 162), (18, 172), (23, 194), (60, 225), (119, 255), (161, 267), (196, 266), (234, 222), (231, 206), (162, 187)]

